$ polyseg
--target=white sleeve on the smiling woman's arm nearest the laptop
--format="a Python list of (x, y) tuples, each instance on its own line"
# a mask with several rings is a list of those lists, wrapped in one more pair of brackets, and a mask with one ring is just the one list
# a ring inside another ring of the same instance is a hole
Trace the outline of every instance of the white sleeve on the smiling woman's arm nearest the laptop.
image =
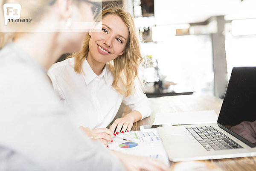
[(123, 99), (123, 103), (129, 105), (132, 111), (137, 110), (140, 112), (142, 119), (150, 116), (151, 114), (150, 101), (141, 89), (137, 89), (134, 95), (125, 97)]

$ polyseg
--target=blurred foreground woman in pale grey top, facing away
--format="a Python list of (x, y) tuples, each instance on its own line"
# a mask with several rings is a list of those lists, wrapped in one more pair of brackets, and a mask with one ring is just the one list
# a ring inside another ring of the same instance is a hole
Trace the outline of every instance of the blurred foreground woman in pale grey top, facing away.
[(0, 15), (0, 170), (167, 171), (160, 161), (92, 142), (89, 137), (96, 135), (79, 132), (52, 89), (47, 70), (61, 54), (81, 50), (85, 32), (74, 32), (74, 21), (93, 21), (94, 3), (0, 0), (0, 10), (3, 4), (13, 10), (20, 4), (20, 18), (38, 22), (23, 23), (23, 28), (8, 23), (5, 32)]

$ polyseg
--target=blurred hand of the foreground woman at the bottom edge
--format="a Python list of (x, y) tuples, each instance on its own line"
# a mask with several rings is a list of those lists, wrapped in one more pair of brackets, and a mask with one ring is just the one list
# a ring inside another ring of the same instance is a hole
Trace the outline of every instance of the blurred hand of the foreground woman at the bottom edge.
[(149, 157), (133, 156), (123, 154), (118, 151), (113, 151), (119, 158), (127, 171), (168, 171), (167, 165), (158, 159), (151, 159)]

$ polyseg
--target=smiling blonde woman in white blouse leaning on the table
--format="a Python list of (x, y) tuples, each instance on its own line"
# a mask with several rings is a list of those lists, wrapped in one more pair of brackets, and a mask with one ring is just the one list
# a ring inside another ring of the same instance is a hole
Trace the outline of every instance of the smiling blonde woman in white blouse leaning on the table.
[[(144, 61), (131, 14), (110, 7), (101, 17), (102, 30), (90, 30), (83, 49), (54, 64), (48, 75), (61, 101), (75, 111), (77, 126), (100, 128), (93, 131), (111, 142), (114, 130), (114, 135), (128, 132), (134, 122), (148, 117), (150, 105), (141, 89), (139, 70)], [(110, 132), (106, 127), (122, 102), (132, 112), (116, 119)]]

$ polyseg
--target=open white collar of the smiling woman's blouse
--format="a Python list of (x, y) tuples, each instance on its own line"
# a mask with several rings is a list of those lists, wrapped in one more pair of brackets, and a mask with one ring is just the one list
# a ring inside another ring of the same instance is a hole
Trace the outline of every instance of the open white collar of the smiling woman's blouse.
[(89, 84), (91, 81), (93, 81), (94, 78), (101, 78), (104, 77), (105, 81), (108, 82), (108, 74), (107, 74), (107, 67), (105, 67), (102, 70), (102, 73), (100, 75), (96, 75), (96, 73), (93, 72), (92, 68), (90, 67), (89, 63), (87, 62), (86, 58), (83, 62), (83, 71), (84, 71), (84, 81), (86, 84)]

